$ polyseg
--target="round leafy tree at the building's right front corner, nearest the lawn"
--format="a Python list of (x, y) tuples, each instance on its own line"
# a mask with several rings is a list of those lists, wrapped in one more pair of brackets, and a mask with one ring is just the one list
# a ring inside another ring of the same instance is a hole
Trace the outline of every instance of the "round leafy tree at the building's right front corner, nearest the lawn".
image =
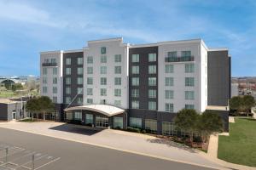
[(198, 117), (197, 129), (198, 132), (201, 133), (203, 142), (206, 142), (207, 137), (211, 133), (223, 131), (224, 122), (216, 111), (204, 111), (201, 116)]

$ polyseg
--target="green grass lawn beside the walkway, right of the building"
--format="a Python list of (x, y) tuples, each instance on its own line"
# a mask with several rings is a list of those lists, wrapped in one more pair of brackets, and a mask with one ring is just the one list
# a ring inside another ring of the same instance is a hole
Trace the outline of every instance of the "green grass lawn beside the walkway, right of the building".
[(256, 120), (236, 118), (230, 136), (218, 136), (218, 158), (256, 167)]

